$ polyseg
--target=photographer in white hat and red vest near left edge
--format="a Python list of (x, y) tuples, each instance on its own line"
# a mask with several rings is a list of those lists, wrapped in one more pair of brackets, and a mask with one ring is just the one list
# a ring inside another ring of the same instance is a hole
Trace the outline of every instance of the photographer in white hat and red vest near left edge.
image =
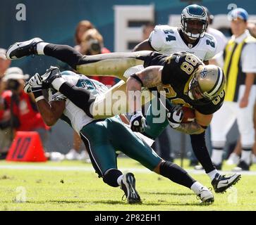
[(11, 133), (6, 136), (9, 140), (6, 155), (16, 131), (37, 131), (42, 143), (47, 141), (49, 127), (37, 111), (34, 97), (23, 91), (28, 78), (29, 75), (24, 75), (20, 68), (8, 68), (2, 79), (5, 91), (1, 94), (4, 103), (0, 110), (0, 129), (11, 128)]

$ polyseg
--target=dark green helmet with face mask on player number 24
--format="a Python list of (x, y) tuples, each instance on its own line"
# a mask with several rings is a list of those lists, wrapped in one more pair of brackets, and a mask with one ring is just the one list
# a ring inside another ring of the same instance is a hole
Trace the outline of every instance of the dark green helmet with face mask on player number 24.
[(193, 4), (183, 9), (181, 13), (181, 30), (190, 39), (204, 37), (207, 27), (207, 12), (205, 8)]

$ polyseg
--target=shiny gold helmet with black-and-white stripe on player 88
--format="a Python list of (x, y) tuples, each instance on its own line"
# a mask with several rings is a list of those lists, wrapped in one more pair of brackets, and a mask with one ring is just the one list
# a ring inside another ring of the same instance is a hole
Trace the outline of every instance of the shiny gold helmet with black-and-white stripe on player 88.
[(188, 96), (193, 100), (213, 100), (224, 90), (226, 77), (216, 65), (200, 65), (189, 84)]

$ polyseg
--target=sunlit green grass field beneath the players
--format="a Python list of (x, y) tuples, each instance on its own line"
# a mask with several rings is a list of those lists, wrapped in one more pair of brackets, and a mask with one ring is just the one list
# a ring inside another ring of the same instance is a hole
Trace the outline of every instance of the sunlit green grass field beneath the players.
[[(118, 158), (118, 167), (124, 168), (123, 172), (136, 169), (133, 173), (142, 205), (128, 205), (121, 200), (123, 191), (104, 184), (85, 162), (1, 161), (0, 210), (256, 210), (255, 174), (243, 174), (235, 188), (214, 194), (213, 205), (201, 205), (193, 191), (147, 172), (138, 162)], [(193, 169), (187, 161), (185, 169)], [(251, 170), (256, 172), (256, 165)], [(191, 175), (211, 187), (207, 175)], [(17, 203), (19, 200), (25, 202)]]

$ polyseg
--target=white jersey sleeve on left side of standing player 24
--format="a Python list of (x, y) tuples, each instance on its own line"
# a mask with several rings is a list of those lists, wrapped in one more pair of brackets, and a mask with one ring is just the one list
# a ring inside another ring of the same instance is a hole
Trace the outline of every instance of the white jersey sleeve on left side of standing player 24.
[(155, 51), (161, 51), (164, 46), (164, 26), (155, 26), (150, 34), (150, 44)]

